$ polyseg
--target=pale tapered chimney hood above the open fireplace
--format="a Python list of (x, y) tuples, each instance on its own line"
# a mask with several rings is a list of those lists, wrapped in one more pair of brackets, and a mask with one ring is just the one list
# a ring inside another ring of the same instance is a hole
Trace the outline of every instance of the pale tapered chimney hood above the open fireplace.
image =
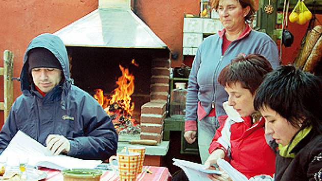
[(130, 0), (99, 0), (99, 8), (54, 33), (65, 46), (167, 49), (137, 17)]

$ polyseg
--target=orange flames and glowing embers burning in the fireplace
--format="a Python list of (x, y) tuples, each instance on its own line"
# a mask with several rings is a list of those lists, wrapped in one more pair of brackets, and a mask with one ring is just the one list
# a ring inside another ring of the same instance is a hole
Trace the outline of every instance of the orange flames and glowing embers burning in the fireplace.
[[(132, 60), (132, 64), (139, 66)], [(133, 116), (134, 102), (131, 95), (134, 92), (134, 76), (129, 70), (119, 65), (122, 76), (116, 81), (116, 88), (109, 98), (104, 96), (102, 89), (95, 89), (94, 98), (111, 117), (118, 133), (138, 134), (141, 132), (140, 123)]]

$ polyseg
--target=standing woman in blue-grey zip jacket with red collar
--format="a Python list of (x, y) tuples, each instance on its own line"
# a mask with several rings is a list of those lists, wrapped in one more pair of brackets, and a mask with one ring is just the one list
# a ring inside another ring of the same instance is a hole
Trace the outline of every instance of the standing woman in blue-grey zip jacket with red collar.
[[(225, 115), (222, 103), (228, 95), (217, 82), (220, 71), (238, 54), (263, 55), (273, 69), (279, 65), (275, 42), (265, 33), (251, 30), (247, 23), (254, 15), (252, 0), (214, 0), (224, 29), (201, 43), (189, 75), (186, 101), (185, 139), (192, 144), (198, 133), (202, 164), (209, 157), (208, 148)], [(219, 121), (219, 122), (218, 122)], [(197, 131), (198, 129), (198, 131)]]

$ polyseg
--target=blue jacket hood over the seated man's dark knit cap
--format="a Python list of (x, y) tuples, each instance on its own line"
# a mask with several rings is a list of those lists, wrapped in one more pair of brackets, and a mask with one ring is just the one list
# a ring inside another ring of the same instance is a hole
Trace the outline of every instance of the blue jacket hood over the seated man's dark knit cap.
[(70, 87), (72, 84), (72, 79), (70, 78), (70, 67), (69, 67), (69, 61), (68, 61), (68, 55), (67, 50), (62, 42), (62, 40), (53, 34), (50, 33), (44, 33), (36, 36), (34, 39), (31, 40), (29, 43), (27, 50), (24, 55), (24, 62), (22, 65), (22, 70), (20, 74), (20, 88), (23, 94), (31, 94), (31, 85), (32, 80), (29, 78), (29, 72), (28, 72), (28, 52), (34, 48), (45, 48), (49, 51), (51, 51), (59, 63), (61, 64), (63, 73), (64, 73), (64, 88)]

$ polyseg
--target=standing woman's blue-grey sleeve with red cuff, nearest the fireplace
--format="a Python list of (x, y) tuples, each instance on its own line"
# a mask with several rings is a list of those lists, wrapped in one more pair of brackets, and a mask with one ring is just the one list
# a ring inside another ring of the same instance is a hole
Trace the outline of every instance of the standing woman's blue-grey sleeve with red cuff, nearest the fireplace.
[(186, 99), (186, 122), (185, 131), (197, 130), (197, 106), (198, 106), (198, 83), (197, 74), (200, 65), (200, 48), (197, 51), (192, 63), (191, 72), (188, 81), (188, 91)]

